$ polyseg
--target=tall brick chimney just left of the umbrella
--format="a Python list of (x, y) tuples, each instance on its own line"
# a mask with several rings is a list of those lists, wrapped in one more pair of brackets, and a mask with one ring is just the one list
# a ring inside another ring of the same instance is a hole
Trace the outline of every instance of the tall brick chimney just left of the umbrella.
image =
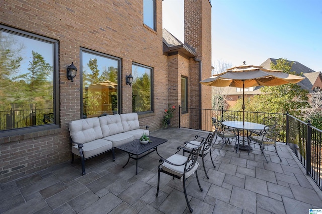
[[(184, 0), (185, 43), (195, 48), (197, 57), (190, 60), (190, 107), (211, 109), (211, 87), (199, 81), (211, 76), (211, 2)], [(201, 69), (201, 72), (200, 72)]]

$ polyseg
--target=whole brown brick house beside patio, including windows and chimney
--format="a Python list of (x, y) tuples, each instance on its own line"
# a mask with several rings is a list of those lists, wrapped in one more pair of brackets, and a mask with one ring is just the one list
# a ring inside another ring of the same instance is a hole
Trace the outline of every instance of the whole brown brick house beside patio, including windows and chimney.
[(70, 160), (70, 121), (137, 112), (153, 131), (168, 104), (172, 126), (179, 105), (211, 108), (211, 3), (182, 1), (189, 45), (162, 28), (158, 0), (2, 1), (0, 182)]

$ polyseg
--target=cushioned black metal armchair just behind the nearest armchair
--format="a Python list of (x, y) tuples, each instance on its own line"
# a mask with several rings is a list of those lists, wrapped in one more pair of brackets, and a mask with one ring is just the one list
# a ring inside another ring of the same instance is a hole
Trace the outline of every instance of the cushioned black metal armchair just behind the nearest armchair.
[[(189, 150), (189, 152), (190, 152), (193, 148), (199, 146), (200, 144), (202, 144), (204, 142), (201, 152), (199, 153), (199, 157), (202, 158), (203, 170), (205, 171), (206, 177), (208, 179), (209, 179), (209, 176), (206, 171), (204, 157), (207, 154), (210, 154), (210, 159), (211, 159), (212, 165), (214, 168), (216, 168), (215, 164), (213, 163), (212, 156), (211, 156), (211, 144), (212, 144), (212, 141), (213, 141), (213, 138), (215, 135), (216, 135), (216, 131), (210, 132), (206, 138), (196, 135), (194, 140), (186, 141), (183, 146), (185, 149)], [(199, 138), (199, 140), (200, 139), (202, 139), (202, 140), (198, 141), (198, 138)], [(183, 150), (183, 155), (185, 155), (185, 150)]]

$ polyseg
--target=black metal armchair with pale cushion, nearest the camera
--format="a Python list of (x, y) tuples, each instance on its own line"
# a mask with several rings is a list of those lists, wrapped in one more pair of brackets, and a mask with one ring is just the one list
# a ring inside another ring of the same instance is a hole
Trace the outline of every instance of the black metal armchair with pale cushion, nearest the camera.
[[(174, 155), (170, 156), (167, 159), (165, 159), (165, 158), (160, 159), (161, 164), (157, 168), (158, 177), (157, 177), (157, 191), (156, 191), (156, 195), (155, 195), (156, 197), (159, 194), (160, 173), (163, 172), (167, 175), (172, 176), (173, 178), (180, 179), (183, 182), (183, 191), (185, 194), (186, 202), (187, 202), (189, 211), (192, 212), (192, 208), (190, 206), (190, 203), (189, 203), (189, 200), (187, 197), (186, 180), (192, 174), (196, 173), (196, 178), (197, 178), (197, 182), (199, 185), (199, 189), (200, 189), (200, 191), (203, 190), (200, 186), (200, 182), (199, 182), (199, 178), (198, 178), (198, 174), (197, 174), (197, 169), (199, 166), (197, 159), (199, 157), (199, 153), (203, 147), (203, 144), (204, 144), (204, 140), (199, 146), (193, 148), (190, 151), (190, 154), (188, 157), (177, 154), (180, 150), (186, 150), (185, 148), (179, 146), (177, 148), (178, 151)], [(186, 152), (189, 152), (189, 151), (186, 150)]]

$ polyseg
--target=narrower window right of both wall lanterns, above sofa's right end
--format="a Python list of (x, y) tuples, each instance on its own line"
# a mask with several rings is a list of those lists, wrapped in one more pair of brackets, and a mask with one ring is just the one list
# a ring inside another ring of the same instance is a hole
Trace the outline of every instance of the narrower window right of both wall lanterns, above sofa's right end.
[(152, 71), (151, 67), (137, 63), (132, 64), (132, 111), (152, 110)]

